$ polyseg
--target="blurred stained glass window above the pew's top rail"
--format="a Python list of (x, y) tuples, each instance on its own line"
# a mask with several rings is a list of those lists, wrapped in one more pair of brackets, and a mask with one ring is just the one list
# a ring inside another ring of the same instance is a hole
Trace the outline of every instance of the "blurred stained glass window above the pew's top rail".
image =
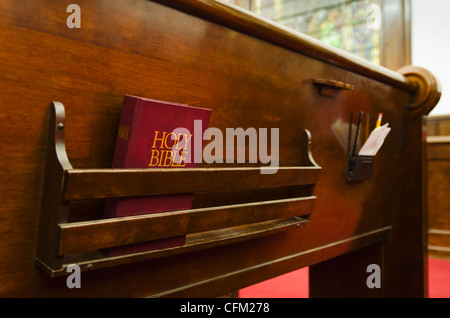
[(230, 0), (229, 2), (380, 64), (380, 0)]

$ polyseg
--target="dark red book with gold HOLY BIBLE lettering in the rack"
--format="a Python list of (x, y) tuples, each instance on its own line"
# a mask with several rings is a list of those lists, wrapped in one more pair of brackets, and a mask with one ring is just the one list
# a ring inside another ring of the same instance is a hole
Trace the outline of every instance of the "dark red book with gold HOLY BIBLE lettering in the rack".
[[(210, 109), (125, 95), (112, 167), (197, 167), (199, 160), (194, 157), (201, 158), (203, 133), (210, 114)], [(201, 136), (195, 138), (194, 134)], [(192, 193), (107, 199), (104, 217), (188, 210), (192, 199)], [(185, 239), (183, 235), (109, 248), (104, 252), (109, 256), (139, 253), (182, 246)]]

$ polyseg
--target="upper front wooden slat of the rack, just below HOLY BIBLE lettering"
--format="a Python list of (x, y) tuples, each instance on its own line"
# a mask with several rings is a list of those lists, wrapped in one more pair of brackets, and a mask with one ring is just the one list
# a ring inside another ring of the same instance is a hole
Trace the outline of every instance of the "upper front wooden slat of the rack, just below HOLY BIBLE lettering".
[[(315, 184), (320, 167), (66, 170), (63, 200)], [(270, 168), (263, 168), (270, 169)]]

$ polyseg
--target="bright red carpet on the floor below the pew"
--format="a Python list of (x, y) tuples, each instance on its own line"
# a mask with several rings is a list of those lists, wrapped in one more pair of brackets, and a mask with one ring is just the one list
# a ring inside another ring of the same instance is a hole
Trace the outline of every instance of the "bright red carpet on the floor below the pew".
[[(429, 298), (450, 298), (450, 260), (428, 259)], [(307, 298), (308, 268), (239, 291), (240, 298)]]

